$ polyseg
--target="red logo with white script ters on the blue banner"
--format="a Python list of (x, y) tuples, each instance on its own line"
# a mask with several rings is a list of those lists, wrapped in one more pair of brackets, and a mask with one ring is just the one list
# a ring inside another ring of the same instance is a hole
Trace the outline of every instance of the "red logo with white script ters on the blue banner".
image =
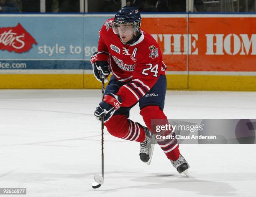
[(0, 28), (0, 50), (27, 52), (36, 40), (18, 23), (16, 27)]

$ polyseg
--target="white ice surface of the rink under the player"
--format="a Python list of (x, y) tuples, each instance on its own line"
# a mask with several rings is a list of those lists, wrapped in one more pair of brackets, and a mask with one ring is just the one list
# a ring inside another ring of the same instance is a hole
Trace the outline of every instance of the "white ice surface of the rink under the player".
[[(139, 143), (107, 131), (104, 185), (92, 189), (101, 170), (100, 122), (93, 116), (100, 99), (100, 90), (0, 90), (0, 188), (27, 188), (27, 197), (256, 196), (255, 144), (181, 144), (186, 178), (157, 144), (147, 166)], [(256, 92), (167, 91), (165, 113), (256, 119)], [(138, 106), (130, 118), (142, 122)]]

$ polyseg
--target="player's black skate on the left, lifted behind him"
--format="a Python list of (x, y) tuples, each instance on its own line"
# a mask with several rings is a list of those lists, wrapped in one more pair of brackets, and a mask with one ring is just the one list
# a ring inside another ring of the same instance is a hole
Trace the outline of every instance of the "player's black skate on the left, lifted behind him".
[(140, 149), (140, 158), (142, 162), (147, 163), (148, 165), (151, 162), (154, 146), (155, 146), (155, 137), (151, 132), (148, 130), (147, 127), (142, 126), (141, 124), (137, 123), (145, 130), (145, 140), (141, 142), (141, 149)]

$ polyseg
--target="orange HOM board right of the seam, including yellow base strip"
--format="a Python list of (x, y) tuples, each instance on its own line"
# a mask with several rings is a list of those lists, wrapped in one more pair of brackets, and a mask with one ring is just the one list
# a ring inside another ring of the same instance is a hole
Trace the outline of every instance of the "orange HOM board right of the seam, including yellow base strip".
[(256, 91), (256, 15), (189, 15), (189, 89)]

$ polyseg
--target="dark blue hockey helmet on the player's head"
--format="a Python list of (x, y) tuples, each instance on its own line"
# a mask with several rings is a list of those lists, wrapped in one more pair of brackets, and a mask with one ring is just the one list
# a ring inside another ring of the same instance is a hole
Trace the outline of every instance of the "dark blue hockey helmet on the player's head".
[(116, 13), (114, 18), (114, 25), (132, 23), (136, 31), (140, 31), (141, 13), (137, 7), (125, 6)]

